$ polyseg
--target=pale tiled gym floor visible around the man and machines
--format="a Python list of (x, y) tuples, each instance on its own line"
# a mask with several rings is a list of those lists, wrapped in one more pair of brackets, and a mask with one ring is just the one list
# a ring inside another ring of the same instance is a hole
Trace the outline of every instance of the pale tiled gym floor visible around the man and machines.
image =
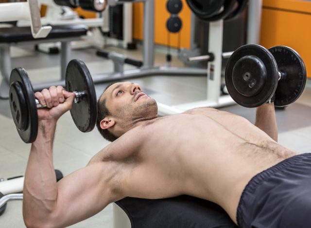
[[(110, 48), (130, 57), (141, 59), (141, 50), (126, 51)], [(80, 58), (86, 62), (90, 73), (97, 75), (113, 70), (111, 61), (97, 57), (95, 49), (73, 50), (72, 58)], [(33, 83), (59, 79), (59, 55), (47, 55), (35, 52), (33, 46), (12, 47), (12, 68), (23, 67), (28, 72)], [(155, 53), (155, 64), (165, 65), (165, 53), (161, 50)], [(173, 66), (183, 64), (173, 57)], [(132, 69), (126, 66), (125, 69)], [(207, 79), (204, 76), (148, 76), (131, 80), (140, 84), (145, 92), (156, 101), (176, 105), (206, 98)], [(97, 96), (100, 96), (106, 84), (95, 86)], [(242, 115), (251, 122), (255, 120), (255, 109), (243, 108), (238, 105), (222, 108)], [(276, 110), (279, 129), (279, 143), (296, 152), (311, 152), (311, 80), (303, 95), (285, 110)], [(30, 144), (25, 144), (19, 138), (14, 122), (10, 117), (8, 100), (0, 100), (0, 178), (24, 175)], [(58, 121), (54, 142), (54, 166), (64, 175), (85, 167), (89, 159), (109, 142), (105, 141), (96, 129), (90, 133), (81, 133), (74, 125), (71, 116), (64, 114)], [(72, 228), (112, 228), (112, 205), (106, 207), (97, 215), (82, 221)], [(1, 215), (0, 228), (25, 227), (22, 218), (22, 202), (11, 201)]]

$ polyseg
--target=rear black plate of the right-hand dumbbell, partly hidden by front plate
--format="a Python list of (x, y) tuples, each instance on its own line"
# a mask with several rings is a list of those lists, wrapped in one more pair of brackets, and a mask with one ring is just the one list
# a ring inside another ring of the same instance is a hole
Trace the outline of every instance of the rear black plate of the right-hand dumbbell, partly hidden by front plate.
[(275, 106), (283, 107), (293, 103), (302, 94), (307, 72), (299, 54), (290, 47), (276, 46), (269, 49), (276, 59), (278, 71), (282, 77), (276, 88)]

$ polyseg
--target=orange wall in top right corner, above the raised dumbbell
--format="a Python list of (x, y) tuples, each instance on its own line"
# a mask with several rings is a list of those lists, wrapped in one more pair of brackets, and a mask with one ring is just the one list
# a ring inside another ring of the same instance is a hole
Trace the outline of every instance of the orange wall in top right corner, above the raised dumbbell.
[(264, 0), (260, 44), (266, 48), (285, 45), (294, 48), (311, 77), (311, 1)]

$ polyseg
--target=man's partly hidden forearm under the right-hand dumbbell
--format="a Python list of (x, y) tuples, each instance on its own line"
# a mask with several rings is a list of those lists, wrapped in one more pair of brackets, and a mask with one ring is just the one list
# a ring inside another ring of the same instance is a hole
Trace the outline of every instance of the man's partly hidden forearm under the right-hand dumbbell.
[(277, 142), (277, 125), (274, 103), (257, 107), (255, 126)]

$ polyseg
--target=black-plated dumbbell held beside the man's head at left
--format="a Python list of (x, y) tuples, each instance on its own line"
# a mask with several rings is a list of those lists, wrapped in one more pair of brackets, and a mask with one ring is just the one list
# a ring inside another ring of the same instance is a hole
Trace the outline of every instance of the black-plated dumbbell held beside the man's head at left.
[[(80, 59), (73, 59), (66, 69), (66, 90), (75, 94), (70, 110), (72, 119), (81, 132), (90, 132), (96, 124), (97, 102), (94, 83)], [(34, 89), (27, 72), (15, 68), (10, 76), (10, 108), (17, 132), (25, 143), (35, 141), (38, 133), (37, 109), (46, 108), (35, 99)]]

